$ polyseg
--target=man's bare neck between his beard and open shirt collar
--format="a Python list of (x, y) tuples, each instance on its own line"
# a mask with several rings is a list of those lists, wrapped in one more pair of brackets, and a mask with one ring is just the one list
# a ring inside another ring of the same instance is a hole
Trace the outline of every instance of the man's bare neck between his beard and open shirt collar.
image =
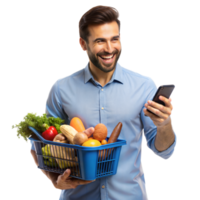
[(111, 80), (112, 75), (115, 71), (115, 68), (114, 68), (110, 72), (103, 72), (99, 68), (93, 66), (91, 62), (89, 62), (89, 69), (95, 81), (99, 82), (102, 87), (105, 86)]

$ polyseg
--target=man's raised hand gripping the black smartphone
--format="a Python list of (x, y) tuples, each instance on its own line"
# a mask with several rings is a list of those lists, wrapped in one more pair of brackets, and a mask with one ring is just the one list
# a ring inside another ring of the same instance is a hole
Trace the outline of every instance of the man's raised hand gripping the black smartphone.
[(163, 96), (159, 96), (159, 99), (165, 103), (165, 106), (154, 101), (148, 101), (145, 104), (145, 107), (154, 114), (148, 112), (145, 108), (143, 109), (143, 111), (146, 116), (149, 116), (151, 118), (151, 120), (157, 127), (162, 127), (167, 125), (168, 123), (171, 123), (171, 115), (174, 110), (174, 105), (173, 98), (167, 99)]

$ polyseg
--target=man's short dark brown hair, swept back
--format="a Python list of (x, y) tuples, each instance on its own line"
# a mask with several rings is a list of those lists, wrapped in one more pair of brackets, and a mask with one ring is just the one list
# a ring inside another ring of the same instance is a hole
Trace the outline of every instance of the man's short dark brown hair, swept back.
[(97, 5), (88, 9), (77, 23), (77, 36), (83, 38), (88, 43), (90, 36), (89, 25), (101, 25), (116, 21), (119, 26), (119, 33), (121, 33), (121, 14), (120, 11), (112, 6)]

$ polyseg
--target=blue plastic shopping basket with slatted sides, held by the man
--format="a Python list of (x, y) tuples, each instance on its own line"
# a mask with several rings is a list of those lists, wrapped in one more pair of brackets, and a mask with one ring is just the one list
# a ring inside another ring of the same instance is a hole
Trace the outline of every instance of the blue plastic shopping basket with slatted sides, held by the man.
[(121, 147), (126, 144), (125, 140), (118, 139), (115, 143), (98, 147), (83, 147), (45, 140), (33, 127), (29, 129), (38, 136), (38, 139), (29, 137), (35, 146), (38, 169), (60, 174), (71, 169), (70, 177), (82, 180), (116, 174)]

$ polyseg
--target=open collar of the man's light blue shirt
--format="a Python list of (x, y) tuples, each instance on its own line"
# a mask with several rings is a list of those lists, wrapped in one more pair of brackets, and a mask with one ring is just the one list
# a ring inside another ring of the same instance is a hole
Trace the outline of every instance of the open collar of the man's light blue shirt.
[[(89, 62), (86, 63), (85, 65), (85, 83), (87, 83), (88, 81), (90, 80), (94, 80), (94, 77), (92, 76), (90, 70), (89, 70)], [(120, 82), (123, 84), (123, 73), (122, 73), (122, 65), (120, 62), (117, 62), (116, 63), (116, 68), (115, 68), (115, 71), (113, 73), (113, 76), (110, 80), (109, 83), (113, 82), (113, 81), (117, 81), (117, 82)]]

